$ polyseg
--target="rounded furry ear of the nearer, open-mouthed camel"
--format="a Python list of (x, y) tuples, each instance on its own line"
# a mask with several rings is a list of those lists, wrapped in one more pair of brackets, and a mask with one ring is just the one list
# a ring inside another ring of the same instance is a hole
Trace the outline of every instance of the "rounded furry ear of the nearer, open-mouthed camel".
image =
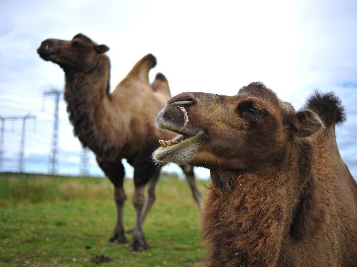
[(291, 116), (290, 127), (296, 137), (307, 137), (324, 128), (321, 119), (310, 110), (301, 110)]

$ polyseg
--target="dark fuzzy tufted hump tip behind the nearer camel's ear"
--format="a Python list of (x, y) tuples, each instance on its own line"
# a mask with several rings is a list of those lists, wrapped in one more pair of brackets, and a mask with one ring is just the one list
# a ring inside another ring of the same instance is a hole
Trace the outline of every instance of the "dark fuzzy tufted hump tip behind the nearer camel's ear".
[(321, 94), (315, 91), (307, 100), (307, 108), (315, 111), (325, 126), (342, 124), (346, 121), (345, 108), (333, 92)]

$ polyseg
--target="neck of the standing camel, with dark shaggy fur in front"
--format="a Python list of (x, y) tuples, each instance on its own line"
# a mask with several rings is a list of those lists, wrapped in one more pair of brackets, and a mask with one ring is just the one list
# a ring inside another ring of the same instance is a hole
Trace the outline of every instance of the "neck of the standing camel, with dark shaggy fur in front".
[(66, 70), (65, 100), (74, 134), (82, 145), (97, 155), (108, 156), (115, 148), (103, 130), (103, 118), (108, 118), (111, 98), (109, 94), (109, 59), (100, 55), (91, 68), (82, 72)]

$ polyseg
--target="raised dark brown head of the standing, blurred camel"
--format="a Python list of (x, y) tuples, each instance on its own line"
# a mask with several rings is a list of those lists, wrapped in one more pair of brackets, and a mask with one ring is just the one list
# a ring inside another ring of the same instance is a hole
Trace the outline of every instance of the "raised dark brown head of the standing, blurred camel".
[(94, 62), (98, 54), (108, 51), (105, 45), (97, 45), (81, 33), (72, 40), (47, 39), (37, 49), (40, 57), (52, 61), (63, 69), (85, 70)]

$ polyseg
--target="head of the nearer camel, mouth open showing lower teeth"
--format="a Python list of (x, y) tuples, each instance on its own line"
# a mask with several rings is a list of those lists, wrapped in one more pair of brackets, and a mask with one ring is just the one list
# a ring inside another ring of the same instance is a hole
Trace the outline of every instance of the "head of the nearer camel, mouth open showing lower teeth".
[(247, 172), (280, 168), (293, 140), (323, 127), (314, 112), (296, 112), (262, 83), (251, 83), (234, 96), (178, 94), (157, 115), (156, 125), (178, 134), (159, 141), (153, 155), (157, 162)]

